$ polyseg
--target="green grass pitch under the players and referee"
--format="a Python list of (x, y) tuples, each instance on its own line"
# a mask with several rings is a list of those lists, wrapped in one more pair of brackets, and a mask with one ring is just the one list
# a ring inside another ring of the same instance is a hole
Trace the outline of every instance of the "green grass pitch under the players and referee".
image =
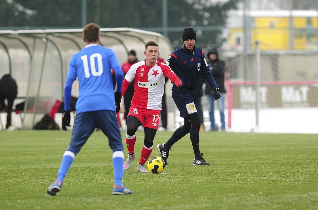
[[(156, 145), (172, 132), (157, 132)], [(122, 132), (124, 141), (125, 132)], [(132, 195), (112, 195), (112, 151), (94, 132), (76, 156), (56, 196), (56, 179), (71, 137), (67, 131), (0, 132), (0, 209), (318, 209), (318, 135), (201, 132), (200, 150), (211, 166), (192, 166), (189, 134), (179, 140), (161, 174), (137, 173), (123, 182)], [(125, 159), (127, 147), (124, 142)]]

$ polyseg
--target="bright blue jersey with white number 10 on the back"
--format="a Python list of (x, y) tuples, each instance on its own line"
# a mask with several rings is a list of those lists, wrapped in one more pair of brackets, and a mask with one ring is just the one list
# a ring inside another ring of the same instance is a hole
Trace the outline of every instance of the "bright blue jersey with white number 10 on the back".
[(67, 78), (79, 80), (76, 113), (116, 111), (111, 68), (118, 66), (114, 51), (97, 44), (88, 44), (72, 56)]

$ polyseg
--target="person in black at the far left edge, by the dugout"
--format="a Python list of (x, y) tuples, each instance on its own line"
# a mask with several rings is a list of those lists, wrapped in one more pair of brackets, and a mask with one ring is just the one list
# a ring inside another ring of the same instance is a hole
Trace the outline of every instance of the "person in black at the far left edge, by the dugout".
[(6, 107), (4, 99), (7, 99), (8, 102), (6, 129), (11, 126), (12, 106), (14, 99), (17, 98), (17, 89), (17, 83), (10, 74), (6, 74), (0, 79), (0, 110)]

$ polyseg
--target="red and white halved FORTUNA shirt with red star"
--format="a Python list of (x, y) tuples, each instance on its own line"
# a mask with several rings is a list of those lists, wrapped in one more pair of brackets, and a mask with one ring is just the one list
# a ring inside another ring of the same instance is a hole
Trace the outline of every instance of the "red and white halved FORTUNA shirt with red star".
[(128, 84), (135, 79), (135, 93), (131, 105), (143, 109), (161, 110), (165, 77), (168, 77), (176, 86), (182, 85), (181, 80), (171, 68), (160, 61), (157, 61), (154, 66), (147, 66), (145, 60), (135, 63), (125, 76), (121, 96)]

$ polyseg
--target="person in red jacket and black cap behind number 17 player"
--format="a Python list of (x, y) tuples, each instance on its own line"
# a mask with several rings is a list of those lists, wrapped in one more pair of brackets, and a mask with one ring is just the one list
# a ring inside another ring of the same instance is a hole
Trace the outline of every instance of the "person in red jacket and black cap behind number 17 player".
[[(138, 59), (136, 58), (136, 51), (134, 50), (131, 50), (129, 53), (128, 53), (128, 61), (126, 63), (123, 63), (121, 68), (122, 68), (122, 71), (124, 71), (124, 76), (126, 76), (128, 70), (130, 69), (130, 67), (137, 63), (138, 62)], [(124, 114), (124, 119), (126, 119), (127, 121), (127, 115), (128, 115), (128, 112), (129, 112), (129, 107), (130, 107), (130, 103), (131, 103), (131, 100), (134, 96), (134, 92), (135, 92), (135, 88), (134, 88), (134, 81), (132, 81), (128, 87), (127, 87), (127, 90), (124, 94), (124, 106), (125, 106), (125, 114)]]

